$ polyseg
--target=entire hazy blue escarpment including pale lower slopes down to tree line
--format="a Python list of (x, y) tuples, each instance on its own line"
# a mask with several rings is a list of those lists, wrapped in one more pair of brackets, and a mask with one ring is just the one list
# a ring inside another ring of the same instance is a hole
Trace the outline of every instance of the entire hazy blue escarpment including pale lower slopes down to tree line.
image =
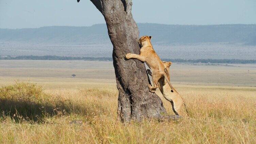
[[(256, 59), (256, 24), (138, 23), (165, 59)], [(106, 24), (0, 29), (0, 56), (112, 57)]]

